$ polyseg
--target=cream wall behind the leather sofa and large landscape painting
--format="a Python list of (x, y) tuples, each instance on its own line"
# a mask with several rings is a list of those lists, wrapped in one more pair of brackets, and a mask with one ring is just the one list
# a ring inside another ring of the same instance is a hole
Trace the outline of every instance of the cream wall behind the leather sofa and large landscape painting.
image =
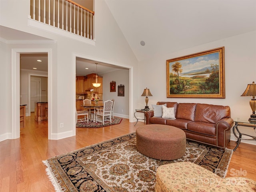
[[(166, 60), (186, 56), (224, 46), (225, 57), (225, 92), (226, 98), (167, 98), (166, 97)], [(240, 34), (230, 38), (210, 42), (186, 50), (180, 50), (166, 55), (159, 55), (139, 62), (139, 88), (150, 88), (153, 96), (149, 97), (148, 106), (158, 101), (207, 103), (230, 106), (231, 117), (248, 119), (252, 110), (249, 100), (252, 97), (241, 97), (247, 84), (256, 82), (256, 31)], [(144, 75), (145, 74), (145, 75)], [(144, 97), (140, 97), (140, 107), (144, 106)], [(252, 128), (242, 128), (243, 131), (255, 136)], [(234, 139), (234, 136), (232, 136)], [(244, 141), (243, 141), (244, 142)], [(255, 142), (251, 142), (254, 143)]]

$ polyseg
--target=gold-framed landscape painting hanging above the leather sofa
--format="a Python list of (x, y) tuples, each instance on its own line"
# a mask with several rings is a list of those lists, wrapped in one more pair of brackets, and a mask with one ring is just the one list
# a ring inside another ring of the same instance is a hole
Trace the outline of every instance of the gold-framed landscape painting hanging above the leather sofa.
[(167, 98), (225, 98), (224, 47), (166, 60)]

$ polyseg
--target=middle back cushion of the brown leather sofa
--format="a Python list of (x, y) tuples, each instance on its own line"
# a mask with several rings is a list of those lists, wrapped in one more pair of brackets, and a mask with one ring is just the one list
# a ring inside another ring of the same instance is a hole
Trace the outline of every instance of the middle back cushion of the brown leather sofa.
[(196, 103), (179, 103), (176, 118), (194, 121), (196, 111)]

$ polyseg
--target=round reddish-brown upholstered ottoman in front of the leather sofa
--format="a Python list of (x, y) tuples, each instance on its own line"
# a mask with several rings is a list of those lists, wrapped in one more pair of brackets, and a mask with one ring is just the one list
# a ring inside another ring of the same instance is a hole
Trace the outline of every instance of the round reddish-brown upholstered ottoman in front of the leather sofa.
[(169, 125), (149, 124), (136, 130), (137, 150), (154, 159), (174, 160), (186, 152), (186, 134)]

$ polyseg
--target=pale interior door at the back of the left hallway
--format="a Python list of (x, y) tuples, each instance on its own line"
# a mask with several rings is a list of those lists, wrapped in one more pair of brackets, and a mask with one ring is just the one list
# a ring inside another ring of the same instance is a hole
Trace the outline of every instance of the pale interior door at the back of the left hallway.
[(41, 101), (40, 86), (40, 78), (30, 78), (30, 112), (35, 111), (35, 102)]

